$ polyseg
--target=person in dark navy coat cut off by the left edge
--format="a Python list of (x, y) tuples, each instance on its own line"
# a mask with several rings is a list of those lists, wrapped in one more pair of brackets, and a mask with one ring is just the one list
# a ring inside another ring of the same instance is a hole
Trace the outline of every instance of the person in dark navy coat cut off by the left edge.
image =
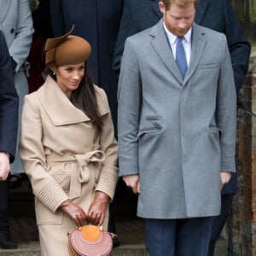
[[(15, 82), (9, 50), (0, 31), (0, 195), (8, 188), (10, 163), (15, 160), (15, 148), (18, 127), (19, 98), (15, 90)], [(16, 248), (9, 237), (7, 219), (8, 200), (0, 203), (0, 247)]]

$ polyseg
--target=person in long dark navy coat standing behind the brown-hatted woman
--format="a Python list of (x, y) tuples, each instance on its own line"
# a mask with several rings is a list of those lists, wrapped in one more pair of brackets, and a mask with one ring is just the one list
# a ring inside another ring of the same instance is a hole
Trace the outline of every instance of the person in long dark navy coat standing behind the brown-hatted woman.
[[(55, 37), (68, 32), (74, 25), (73, 34), (85, 38), (91, 45), (88, 66), (93, 81), (107, 93), (116, 134), (117, 84), (113, 73), (113, 51), (119, 31), (124, 0), (50, 0), (51, 24)], [(120, 184), (118, 184), (118, 188)], [(108, 231), (115, 233), (114, 202), (109, 209)], [(119, 245), (115, 238), (113, 245)]]

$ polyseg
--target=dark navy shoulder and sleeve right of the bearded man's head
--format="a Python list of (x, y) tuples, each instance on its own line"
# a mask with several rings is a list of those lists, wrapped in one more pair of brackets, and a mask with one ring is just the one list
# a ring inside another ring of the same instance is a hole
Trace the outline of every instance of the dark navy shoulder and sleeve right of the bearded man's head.
[(228, 40), (236, 93), (238, 93), (247, 74), (251, 46), (236, 18), (230, 0), (207, 1), (207, 8), (202, 13), (198, 11), (198, 8), (195, 22), (198, 25), (223, 32)]

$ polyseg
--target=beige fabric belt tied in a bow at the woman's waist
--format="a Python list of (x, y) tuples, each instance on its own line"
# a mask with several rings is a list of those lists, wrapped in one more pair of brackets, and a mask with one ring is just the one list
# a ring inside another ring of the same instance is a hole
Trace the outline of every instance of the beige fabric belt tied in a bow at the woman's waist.
[(90, 162), (102, 162), (103, 160), (105, 160), (105, 154), (102, 150), (95, 150), (87, 152), (86, 154), (74, 155), (49, 154), (46, 157), (49, 168), (50, 166), (61, 164), (78, 163), (79, 172), (77, 172), (77, 166), (70, 166), (70, 199), (79, 197), (81, 195), (81, 184), (87, 183), (90, 180), (90, 170), (88, 168), (88, 164)]

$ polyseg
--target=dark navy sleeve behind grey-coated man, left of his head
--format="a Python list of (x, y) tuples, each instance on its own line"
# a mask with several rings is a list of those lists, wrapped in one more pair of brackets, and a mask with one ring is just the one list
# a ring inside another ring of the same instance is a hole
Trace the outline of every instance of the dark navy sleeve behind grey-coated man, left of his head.
[(134, 8), (133, 1), (125, 1), (123, 16), (120, 22), (118, 38), (113, 55), (113, 71), (117, 74), (120, 72), (120, 62), (125, 48), (126, 38), (139, 32)]

